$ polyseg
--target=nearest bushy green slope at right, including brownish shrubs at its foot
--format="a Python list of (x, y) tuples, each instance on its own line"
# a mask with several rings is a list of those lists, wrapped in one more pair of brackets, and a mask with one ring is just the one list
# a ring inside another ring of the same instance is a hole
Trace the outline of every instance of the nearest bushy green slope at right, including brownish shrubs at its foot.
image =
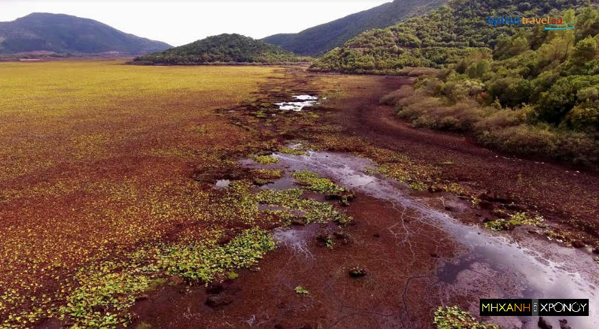
[[(395, 105), (398, 115), (417, 127), (464, 131), (509, 153), (596, 166), (597, 5), (577, 3), (550, 16), (563, 18), (574, 29), (548, 31), (535, 25), (508, 30), (489, 38), (491, 52), (471, 49), (440, 70), (428, 70), (432, 74), (419, 77), (414, 88), (404, 86), (382, 101)], [(424, 51), (415, 54), (413, 60), (430, 60)]]

